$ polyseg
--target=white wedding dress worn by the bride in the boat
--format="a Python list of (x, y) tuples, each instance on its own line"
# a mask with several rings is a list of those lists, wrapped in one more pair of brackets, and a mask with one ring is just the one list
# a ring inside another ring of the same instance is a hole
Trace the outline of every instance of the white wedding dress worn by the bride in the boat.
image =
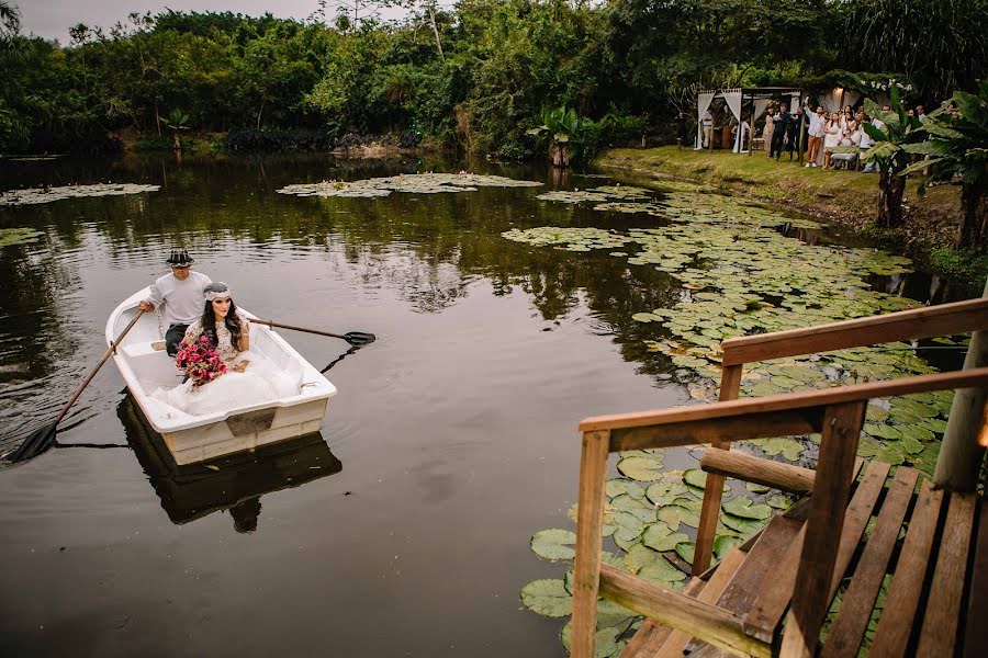
[[(243, 325), (249, 332), (249, 324), (244, 321)], [(186, 338), (194, 340), (201, 333), (202, 326), (197, 320), (189, 326)], [(217, 325), (216, 338), (226, 374), (202, 386), (193, 386), (189, 379), (175, 388), (158, 388), (151, 397), (190, 416), (207, 416), (299, 394), (299, 382), (293, 382), (262, 354), (234, 349), (225, 326)], [(234, 372), (233, 366), (242, 361), (249, 362), (247, 368), (243, 373)]]

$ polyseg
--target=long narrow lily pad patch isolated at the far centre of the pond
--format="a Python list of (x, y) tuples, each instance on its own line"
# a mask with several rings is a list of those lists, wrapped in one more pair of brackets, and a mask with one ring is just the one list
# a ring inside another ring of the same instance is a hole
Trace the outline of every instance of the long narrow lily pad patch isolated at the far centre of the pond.
[(295, 196), (343, 196), (351, 198), (389, 196), (392, 192), (439, 194), (442, 192), (476, 192), (478, 188), (536, 188), (535, 181), (520, 181), (501, 175), (478, 173), (403, 173), (360, 181), (323, 181), (297, 183), (278, 190), (279, 194)]

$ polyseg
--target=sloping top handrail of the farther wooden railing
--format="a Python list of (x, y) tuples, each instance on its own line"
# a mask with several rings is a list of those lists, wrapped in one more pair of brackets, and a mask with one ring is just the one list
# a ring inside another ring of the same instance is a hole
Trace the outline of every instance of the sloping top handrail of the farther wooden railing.
[(816, 354), (913, 338), (988, 329), (988, 299), (941, 304), (842, 322), (745, 336), (723, 341), (723, 364)]

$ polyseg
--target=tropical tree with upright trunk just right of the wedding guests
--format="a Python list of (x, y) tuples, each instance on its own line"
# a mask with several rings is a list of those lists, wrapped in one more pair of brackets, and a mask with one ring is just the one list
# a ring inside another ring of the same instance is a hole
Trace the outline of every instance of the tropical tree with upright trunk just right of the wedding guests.
[(882, 126), (864, 124), (864, 131), (875, 140), (875, 146), (862, 154), (864, 162), (878, 164), (878, 226), (896, 228), (902, 224), (902, 194), (906, 192), (906, 175), (911, 154), (922, 152), (917, 143), (925, 135), (917, 131), (922, 125), (914, 116), (906, 113), (895, 86), (889, 89), (891, 112), (883, 112), (871, 99), (865, 99), (865, 112), (882, 122)]

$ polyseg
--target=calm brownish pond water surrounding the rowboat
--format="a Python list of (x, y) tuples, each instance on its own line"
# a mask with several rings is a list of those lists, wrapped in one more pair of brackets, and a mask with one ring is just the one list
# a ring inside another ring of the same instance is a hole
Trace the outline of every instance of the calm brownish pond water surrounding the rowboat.
[[(3, 452), (57, 413), (105, 349), (110, 311), (175, 245), (262, 317), (378, 342), (328, 371), (321, 435), (176, 472), (108, 364), (59, 446), (0, 470), (7, 656), (559, 655), (561, 621), (518, 593), (564, 565), (529, 536), (565, 526), (583, 417), (689, 400), (632, 314), (682, 287), (512, 228), (644, 225), (536, 195), (604, 178), (475, 166), (544, 188), (383, 198), (291, 183), (456, 171), (326, 158), (5, 163), (0, 189), (139, 182), (159, 192), (0, 209), (41, 241), (2, 249)], [(812, 235), (812, 240), (831, 239)], [(929, 279), (876, 279), (925, 299)], [(314, 365), (346, 343), (284, 332)]]

